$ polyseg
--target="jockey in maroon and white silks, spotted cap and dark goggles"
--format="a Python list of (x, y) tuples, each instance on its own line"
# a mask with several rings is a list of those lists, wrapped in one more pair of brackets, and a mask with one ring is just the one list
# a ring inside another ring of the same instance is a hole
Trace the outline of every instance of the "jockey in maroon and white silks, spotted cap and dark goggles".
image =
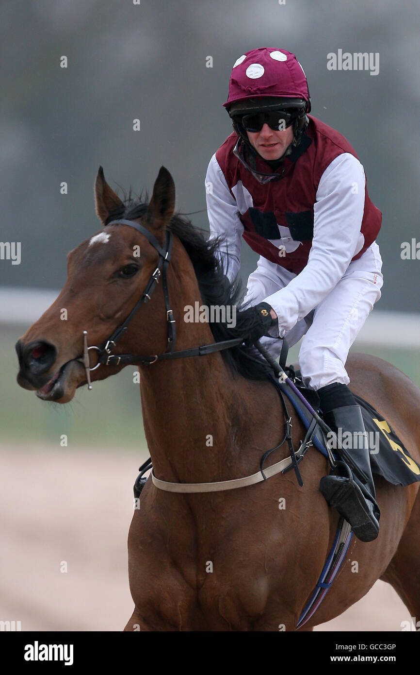
[[(382, 214), (366, 189), (351, 144), (316, 117), (303, 68), (285, 49), (253, 49), (235, 64), (223, 104), (234, 132), (208, 165), (210, 240), (230, 281), (240, 267), (241, 236), (260, 254), (244, 302), (260, 322), (275, 358), (281, 340), (302, 340), (303, 382), (320, 397), (324, 420), (350, 431), (351, 452), (366, 484), (326, 476), (320, 491), (361, 541), (378, 537), (380, 510), (361, 409), (344, 364), (357, 333), (381, 296), (376, 236)], [(272, 336), (272, 337), (269, 337)], [(349, 437), (349, 435), (347, 435)], [(362, 440), (363, 439), (363, 440)]]

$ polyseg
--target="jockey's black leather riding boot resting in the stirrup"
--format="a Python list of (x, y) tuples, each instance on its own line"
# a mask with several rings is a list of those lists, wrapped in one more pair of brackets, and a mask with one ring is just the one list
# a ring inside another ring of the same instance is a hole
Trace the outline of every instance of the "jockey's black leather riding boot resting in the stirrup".
[[(331, 386), (331, 385), (330, 385)], [(338, 387), (345, 387), (345, 385), (338, 385)], [(347, 387), (345, 387), (347, 389)], [(324, 387), (327, 389), (327, 387)], [(318, 394), (322, 394), (322, 389)], [(373, 484), (373, 477), (369, 461), (369, 447), (367, 443), (367, 434), (361, 408), (355, 403), (353, 394), (347, 389), (346, 392), (340, 391), (340, 388), (328, 391), (328, 394), (341, 394), (338, 396), (337, 403), (347, 403), (353, 399), (353, 405), (344, 405), (342, 407), (334, 408), (328, 412), (324, 412), (324, 421), (332, 429), (337, 432), (342, 430), (342, 434), (350, 432), (352, 434), (353, 443), (352, 448), (347, 452), (355, 460), (355, 464), (367, 475), (367, 483), (363, 484), (347, 467), (347, 476), (324, 476), (320, 481), (320, 491), (324, 495), (326, 501), (332, 508), (336, 508), (348, 522), (351, 524), (353, 532), (361, 541), (373, 541), (378, 537), (379, 533), (379, 518), (380, 509), (376, 503), (376, 492)], [(322, 396), (320, 396), (322, 402)], [(341, 399), (341, 400), (340, 400)]]

